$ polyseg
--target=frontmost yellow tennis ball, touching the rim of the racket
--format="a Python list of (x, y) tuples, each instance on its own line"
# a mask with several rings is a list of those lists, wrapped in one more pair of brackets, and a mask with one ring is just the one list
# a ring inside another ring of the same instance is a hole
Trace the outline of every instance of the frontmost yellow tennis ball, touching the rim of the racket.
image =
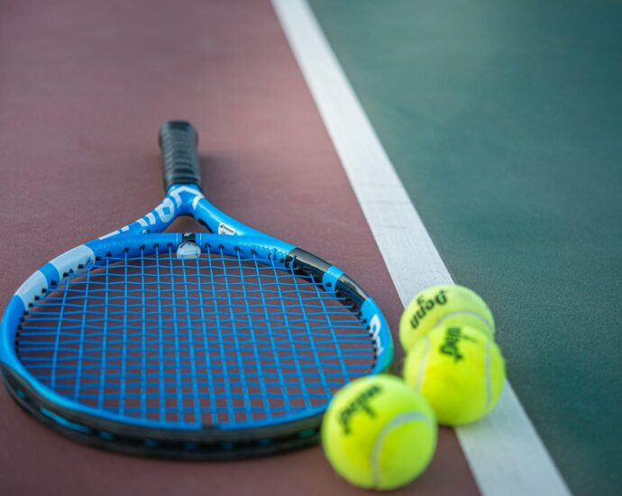
[(335, 394), (322, 445), (334, 470), (352, 484), (396, 489), (422, 473), (434, 455), (434, 412), (397, 377), (363, 377)]

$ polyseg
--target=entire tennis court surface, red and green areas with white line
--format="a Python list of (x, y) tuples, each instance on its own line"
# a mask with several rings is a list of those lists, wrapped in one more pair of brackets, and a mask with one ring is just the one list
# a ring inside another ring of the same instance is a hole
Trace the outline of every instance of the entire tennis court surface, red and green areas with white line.
[[(158, 205), (157, 131), (188, 120), (206, 197), (360, 283), (393, 332), (394, 372), (419, 290), (456, 282), (492, 308), (508, 369), (498, 408), (441, 427), (430, 466), (396, 493), (619, 491), (619, 5), (1, 9), (3, 311), (42, 264)], [(189, 218), (172, 229), (206, 232)], [(0, 445), (3, 494), (363, 492), (317, 445), (180, 462), (78, 444), (4, 387)]]

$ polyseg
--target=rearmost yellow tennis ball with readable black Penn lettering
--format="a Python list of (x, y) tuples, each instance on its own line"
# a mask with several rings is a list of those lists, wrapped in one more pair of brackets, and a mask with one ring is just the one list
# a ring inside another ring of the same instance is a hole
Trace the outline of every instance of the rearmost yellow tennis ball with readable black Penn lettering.
[(404, 309), (399, 320), (399, 341), (407, 352), (416, 340), (435, 326), (472, 326), (495, 333), (490, 308), (479, 295), (457, 285), (424, 289)]

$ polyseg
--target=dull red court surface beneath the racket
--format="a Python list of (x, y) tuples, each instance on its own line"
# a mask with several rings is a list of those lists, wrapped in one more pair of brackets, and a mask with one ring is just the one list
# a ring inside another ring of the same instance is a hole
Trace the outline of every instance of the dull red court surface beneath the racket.
[[(397, 328), (398, 296), (267, 0), (5, 3), (0, 85), (3, 308), (42, 263), (160, 200), (157, 130), (183, 118), (215, 205), (351, 273)], [(42, 427), (4, 388), (0, 419), (3, 494), (359, 492), (319, 447), (235, 463), (114, 455)], [(442, 429), (400, 492), (458, 491), (477, 488)]]

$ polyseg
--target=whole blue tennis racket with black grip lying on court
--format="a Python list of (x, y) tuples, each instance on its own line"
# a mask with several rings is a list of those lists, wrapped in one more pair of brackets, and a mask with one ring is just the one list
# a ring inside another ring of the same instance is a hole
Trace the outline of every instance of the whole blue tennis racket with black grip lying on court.
[[(334, 392), (389, 367), (380, 308), (334, 265), (209, 203), (190, 124), (164, 124), (160, 148), (158, 207), (15, 292), (0, 334), (8, 390), (62, 434), (131, 454), (227, 459), (316, 442)], [(211, 233), (163, 233), (178, 216)]]

